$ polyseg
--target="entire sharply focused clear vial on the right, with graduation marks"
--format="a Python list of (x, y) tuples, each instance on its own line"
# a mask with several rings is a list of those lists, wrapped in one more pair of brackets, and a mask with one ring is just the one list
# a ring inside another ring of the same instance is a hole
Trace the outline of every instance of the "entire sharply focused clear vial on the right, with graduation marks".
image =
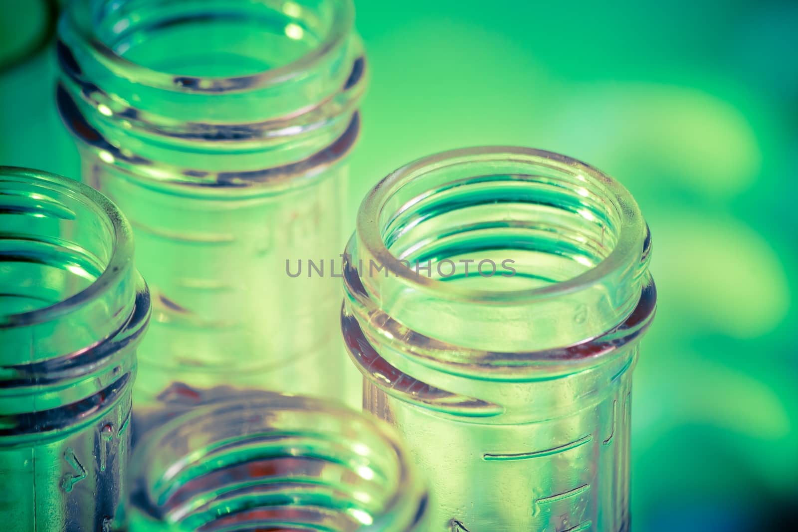
[(628, 191), (555, 153), (447, 152), (373, 188), (347, 255), (347, 349), (430, 477), (429, 530), (629, 530), (656, 296)]

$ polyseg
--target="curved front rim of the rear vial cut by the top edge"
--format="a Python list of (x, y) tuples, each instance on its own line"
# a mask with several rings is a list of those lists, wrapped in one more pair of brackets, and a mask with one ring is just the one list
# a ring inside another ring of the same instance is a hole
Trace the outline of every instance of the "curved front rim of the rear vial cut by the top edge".
[[(312, 69), (329, 56), (332, 50), (338, 48), (346, 40), (354, 24), (354, 6), (351, 0), (332, 0), (332, 2), (334, 14), (330, 33), (318, 46), (286, 65), (245, 76), (187, 76), (151, 69), (130, 61), (97, 37), (89, 13), (86, 12), (89, 0), (71, 2), (65, 9), (64, 20), (72, 23), (77, 35), (89, 47), (95, 59), (117, 75), (135, 80), (140, 85), (177, 93), (231, 93), (263, 89), (290, 81)], [(230, 86), (241, 89), (230, 89)]]

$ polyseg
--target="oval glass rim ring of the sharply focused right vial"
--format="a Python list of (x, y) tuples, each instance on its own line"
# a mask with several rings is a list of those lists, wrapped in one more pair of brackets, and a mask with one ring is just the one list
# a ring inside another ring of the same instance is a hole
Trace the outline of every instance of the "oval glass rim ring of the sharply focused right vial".
[[(472, 164), (478, 167), (480, 164), (489, 164), (491, 161), (511, 161), (516, 163), (519, 168), (534, 169), (545, 166), (561, 171), (570, 169), (574, 175), (593, 179), (595, 184), (599, 184), (606, 191), (607, 194), (603, 199), (610, 201), (618, 215), (618, 240), (610, 250), (610, 254), (602, 258), (595, 266), (591, 266), (588, 270), (563, 282), (525, 290), (508, 291), (464, 289), (456, 284), (418, 275), (387, 249), (381, 234), (380, 219), (386, 202), (401, 187), (413, 179), (421, 178), (428, 171), (460, 164)], [(503, 145), (457, 148), (422, 157), (392, 171), (384, 179), (381, 179), (363, 199), (358, 209), (355, 231), (356, 237), (364, 244), (368, 253), (384, 265), (389, 274), (393, 274), (412, 288), (435, 294), (445, 294), (446, 297), (459, 298), (464, 301), (527, 303), (578, 292), (594, 286), (619, 269), (633, 266), (634, 263), (640, 261), (643, 254), (646, 238), (645, 227), (646, 223), (642, 218), (638, 203), (630, 191), (598, 168), (555, 152)]]

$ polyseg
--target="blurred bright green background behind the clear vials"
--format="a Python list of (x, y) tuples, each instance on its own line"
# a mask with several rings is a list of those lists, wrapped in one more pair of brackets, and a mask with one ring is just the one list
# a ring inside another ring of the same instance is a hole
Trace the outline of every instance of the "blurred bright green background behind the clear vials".
[[(0, 6), (0, 164), (77, 176), (52, 42), (8, 64), (47, 11)], [(659, 292), (634, 376), (634, 530), (795, 526), (798, 3), (356, 6), (370, 79), (350, 223), (377, 179), (447, 148), (528, 145), (613, 175), (650, 224)]]

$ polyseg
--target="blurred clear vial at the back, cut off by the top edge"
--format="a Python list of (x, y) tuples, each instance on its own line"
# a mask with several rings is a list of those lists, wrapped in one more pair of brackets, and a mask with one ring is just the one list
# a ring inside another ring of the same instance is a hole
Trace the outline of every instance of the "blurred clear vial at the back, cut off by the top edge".
[[(346, 236), (346, 156), (365, 86), (353, 19), (349, 0), (65, 10), (58, 108), (82, 179), (132, 223), (152, 291), (137, 418), (228, 384), (344, 393), (328, 259)], [(325, 274), (288, 274), (308, 259)]]

